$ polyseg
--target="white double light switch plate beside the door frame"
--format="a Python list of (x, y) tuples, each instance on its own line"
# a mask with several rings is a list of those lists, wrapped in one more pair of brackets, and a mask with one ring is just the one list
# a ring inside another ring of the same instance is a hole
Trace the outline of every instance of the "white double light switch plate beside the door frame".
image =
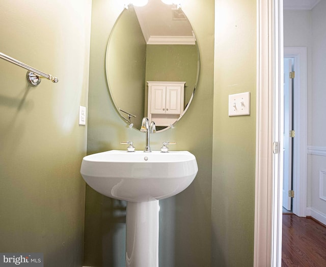
[(250, 115), (250, 92), (229, 95), (229, 116)]

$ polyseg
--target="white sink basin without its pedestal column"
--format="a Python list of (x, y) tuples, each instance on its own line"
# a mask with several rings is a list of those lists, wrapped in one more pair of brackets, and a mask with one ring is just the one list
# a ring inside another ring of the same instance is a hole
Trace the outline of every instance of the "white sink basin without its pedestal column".
[(84, 157), (80, 169), (97, 192), (131, 202), (176, 195), (193, 182), (197, 171), (196, 158), (187, 151), (107, 151)]

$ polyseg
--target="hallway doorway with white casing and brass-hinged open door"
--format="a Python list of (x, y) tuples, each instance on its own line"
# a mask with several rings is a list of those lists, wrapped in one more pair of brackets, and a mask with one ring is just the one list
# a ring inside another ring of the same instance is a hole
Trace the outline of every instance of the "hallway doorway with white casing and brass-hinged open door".
[(300, 217), (307, 215), (307, 75), (307, 47), (284, 47), (282, 204)]

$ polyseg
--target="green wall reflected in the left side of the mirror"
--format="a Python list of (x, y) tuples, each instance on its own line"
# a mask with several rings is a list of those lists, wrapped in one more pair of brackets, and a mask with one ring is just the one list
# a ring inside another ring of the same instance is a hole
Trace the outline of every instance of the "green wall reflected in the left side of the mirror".
[(146, 42), (132, 6), (121, 13), (108, 44), (106, 77), (113, 101), (137, 116), (139, 119), (131, 118), (131, 122), (140, 128), (145, 105)]

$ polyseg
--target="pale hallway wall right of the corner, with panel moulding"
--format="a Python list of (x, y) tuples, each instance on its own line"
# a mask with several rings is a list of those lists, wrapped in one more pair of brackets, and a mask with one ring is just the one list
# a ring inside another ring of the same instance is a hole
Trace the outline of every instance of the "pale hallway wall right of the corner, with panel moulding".
[[(326, 223), (326, 1), (320, 1), (312, 10), (312, 81), (311, 131), (308, 144), (310, 155), (308, 171), (311, 181), (311, 215)], [(320, 155), (317, 155), (320, 154)], [(322, 187), (323, 183), (323, 187)], [(323, 199), (319, 189), (322, 187)]]

